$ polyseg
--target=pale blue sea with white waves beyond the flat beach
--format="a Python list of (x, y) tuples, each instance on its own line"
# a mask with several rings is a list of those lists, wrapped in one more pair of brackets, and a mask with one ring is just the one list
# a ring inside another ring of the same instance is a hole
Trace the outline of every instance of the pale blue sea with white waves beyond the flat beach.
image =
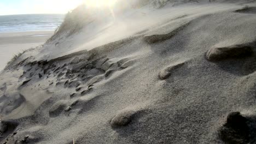
[(0, 15), (0, 33), (53, 31), (61, 25), (64, 14)]

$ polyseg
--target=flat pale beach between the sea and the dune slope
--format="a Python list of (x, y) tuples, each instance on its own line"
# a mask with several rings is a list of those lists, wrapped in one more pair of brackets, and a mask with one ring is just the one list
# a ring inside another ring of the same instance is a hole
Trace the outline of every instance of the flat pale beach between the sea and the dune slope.
[(14, 55), (45, 43), (53, 33), (54, 31), (0, 33), (0, 71)]

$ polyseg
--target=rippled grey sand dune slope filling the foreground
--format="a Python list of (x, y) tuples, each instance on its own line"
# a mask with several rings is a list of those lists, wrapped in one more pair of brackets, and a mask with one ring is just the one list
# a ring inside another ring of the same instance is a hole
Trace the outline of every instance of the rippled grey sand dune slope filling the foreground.
[(256, 143), (255, 1), (153, 5), (67, 18), (11, 62), (1, 143)]

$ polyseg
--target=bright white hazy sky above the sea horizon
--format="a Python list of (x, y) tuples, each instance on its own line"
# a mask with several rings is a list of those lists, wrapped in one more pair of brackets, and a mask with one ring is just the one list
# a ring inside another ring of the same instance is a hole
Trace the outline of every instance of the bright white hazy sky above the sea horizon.
[(83, 0), (0, 0), (0, 15), (66, 14)]

